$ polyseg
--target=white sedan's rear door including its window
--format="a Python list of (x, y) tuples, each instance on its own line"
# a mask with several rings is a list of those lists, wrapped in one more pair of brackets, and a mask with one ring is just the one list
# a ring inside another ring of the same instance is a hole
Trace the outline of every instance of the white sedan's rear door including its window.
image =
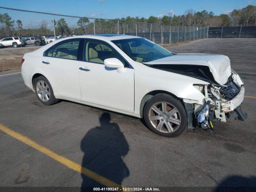
[(54, 90), (60, 96), (81, 99), (78, 65), (83, 39), (68, 39), (44, 52), (42, 66)]

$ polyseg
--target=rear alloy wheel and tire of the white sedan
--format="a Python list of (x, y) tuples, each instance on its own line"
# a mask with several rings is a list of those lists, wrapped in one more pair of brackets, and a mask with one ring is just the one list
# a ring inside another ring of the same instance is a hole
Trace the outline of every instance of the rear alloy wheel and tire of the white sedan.
[(34, 90), (37, 98), (45, 105), (52, 105), (58, 102), (55, 98), (50, 82), (44, 77), (39, 76), (33, 80)]

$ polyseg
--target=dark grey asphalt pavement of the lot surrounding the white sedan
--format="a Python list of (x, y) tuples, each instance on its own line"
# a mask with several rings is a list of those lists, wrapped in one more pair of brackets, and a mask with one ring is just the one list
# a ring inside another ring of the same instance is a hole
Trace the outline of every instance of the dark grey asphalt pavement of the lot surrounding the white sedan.
[[(196, 128), (176, 138), (152, 133), (131, 116), (61, 101), (45, 106), (19, 71), (0, 73), (0, 186), (256, 187), (256, 39), (204, 39), (172, 52), (224, 54), (245, 84), (248, 119)], [(15, 133), (14, 133), (15, 134)], [(46, 155), (22, 136), (50, 150)], [(18, 137), (18, 139), (17, 139)], [(64, 158), (61, 162), (58, 158)], [(67, 160), (67, 161), (66, 161)], [(86, 170), (79, 172), (66, 162)]]

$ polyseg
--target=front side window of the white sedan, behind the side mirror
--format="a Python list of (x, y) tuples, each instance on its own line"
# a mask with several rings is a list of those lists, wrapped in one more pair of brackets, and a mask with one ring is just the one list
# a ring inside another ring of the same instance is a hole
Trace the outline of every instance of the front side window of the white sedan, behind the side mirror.
[(124, 67), (129, 67), (129, 64), (108, 44), (94, 40), (88, 40), (85, 43), (84, 58), (87, 62), (104, 64), (104, 60), (108, 58), (117, 58), (120, 60)]

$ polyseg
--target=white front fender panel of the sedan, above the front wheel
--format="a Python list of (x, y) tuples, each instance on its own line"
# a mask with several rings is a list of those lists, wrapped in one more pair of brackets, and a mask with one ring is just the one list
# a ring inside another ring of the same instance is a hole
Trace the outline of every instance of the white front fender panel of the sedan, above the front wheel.
[[(144, 96), (155, 90), (169, 92), (177, 98), (189, 100), (203, 100), (205, 96), (196, 89), (193, 84), (209, 84), (203, 80), (175, 74), (163, 70), (149, 68), (145, 66), (146, 73), (135, 70), (135, 106), (136, 112), (140, 111), (140, 103)], [(143, 75), (142, 75), (143, 74)]]

